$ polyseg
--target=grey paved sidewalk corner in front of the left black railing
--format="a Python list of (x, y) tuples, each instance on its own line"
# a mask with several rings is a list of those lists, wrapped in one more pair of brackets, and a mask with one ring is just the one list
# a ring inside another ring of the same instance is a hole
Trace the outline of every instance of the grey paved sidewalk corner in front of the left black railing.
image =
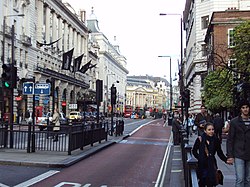
[(123, 136), (109, 136), (108, 141), (95, 143), (92, 147), (86, 146), (83, 150), (67, 152), (37, 151), (27, 153), (25, 150), (0, 149), (0, 164), (40, 166), (51, 168), (63, 168), (73, 165), (86, 157), (126, 138)]

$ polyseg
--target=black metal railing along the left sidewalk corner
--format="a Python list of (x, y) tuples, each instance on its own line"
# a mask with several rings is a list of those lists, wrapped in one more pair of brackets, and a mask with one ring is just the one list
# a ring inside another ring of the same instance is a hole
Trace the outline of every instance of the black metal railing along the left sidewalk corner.
[[(116, 135), (121, 135), (124, 122), (116, 124)], [(53, 125), (39, 130), (39, 125), (32, 124), (1, 124), (0, 148), (22, 149), (27, 153), (35, 151), (71, 152), (83, 149), (84, 146), (108, 139), (109, 126), (107, 121), (100, 123), (76, 123), (60, 125), (59, 131), (53, 131)], [(58, 140), (58, 141), (56, 141)]]

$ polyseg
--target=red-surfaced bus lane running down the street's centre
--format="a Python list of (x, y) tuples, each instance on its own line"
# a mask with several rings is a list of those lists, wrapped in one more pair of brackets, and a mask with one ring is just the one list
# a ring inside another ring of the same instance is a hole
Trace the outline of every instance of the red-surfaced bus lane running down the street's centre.
[(34, 186), (91, 184), (91, 186), (154, 186), (168, 147), (170, 127), (147, 125), (117, 143)]

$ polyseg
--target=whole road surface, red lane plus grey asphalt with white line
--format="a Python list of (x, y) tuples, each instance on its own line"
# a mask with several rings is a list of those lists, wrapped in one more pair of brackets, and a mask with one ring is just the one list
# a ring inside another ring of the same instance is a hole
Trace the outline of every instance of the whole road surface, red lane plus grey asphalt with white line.
[(125, 119), (125, 134), (138, 128), (135, 133), (69, 168), (0, 166), (6, 171), (1, 172), (0, 183), (24, 186), (28, 185), (25, 181), (35, 180), (33, 186), (154, 186), (170, 129), (157, 121), (144, 126), (148, 121)]

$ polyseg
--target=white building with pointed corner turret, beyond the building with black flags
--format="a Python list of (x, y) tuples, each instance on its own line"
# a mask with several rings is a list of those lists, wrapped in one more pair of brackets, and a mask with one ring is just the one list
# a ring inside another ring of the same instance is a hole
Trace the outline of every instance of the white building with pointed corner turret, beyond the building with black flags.
[[(103, 99), (102, 110), (104, 113), (110, 112), (110, 87), (114, 84), (117, 87), (117, 107), (116, 109), (123, 112), (125, 103), (125, 93), (127, 84), (127, 74), (129, 73), (126, 66), (126, 58), (120, 53), (119, 45), (111, 44), (104, 33), (98, 26), (98, 19), (92, 13), (87, 20), (90, 29), (90, 37), (98, 44), (98, 69), (99, 79), (103, 80)], [(116, 41), (114, 41), (116, 42)]]

